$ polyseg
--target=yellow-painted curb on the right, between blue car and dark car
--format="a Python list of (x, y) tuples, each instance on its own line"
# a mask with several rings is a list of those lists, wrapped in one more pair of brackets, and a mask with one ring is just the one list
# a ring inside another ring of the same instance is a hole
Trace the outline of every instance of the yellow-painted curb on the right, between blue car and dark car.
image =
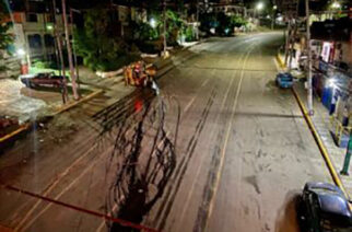
[(300, 105), (300, 108), (301, 108), (301, 111), (302, 111), (302, 114), (303, 114), (303, 116), (304, 116), (304, 118), (305, 118), (305, 120), (306, 120), (306, 123), (308, 124), (308, 127), (309, 127), (309, 129), (310, 129), (310, 131), (312, 131), (312, 134), (313, 134), (313, 136), (314, 136), (314, 139), (315, 139), (315, 141), (317, 142), (317, 144), (318, 144), (318, 147), (319, 147), (319, 150), (320, 150), (320, 152), (321, 152), (321, 155), (322, 155), (322, 158), (324, 158), (324, 160), (325, 160), (325, 162), (326, 162), (326, 164), (327, 164), (327, 166), (328, 166), (328, 170), (329, 170), (329, 172), (330, 172), (330, 175), (331, 175), (331, 177), (332, 177), (332, 179), (333, 179), (333, 182), (335, 182), (335, 184), (343, 192), (343, 194), (344, 194), (344, 196), (348, 198), (348, 199), (350, 199), (350, 196), (349, 196), (349, 194), (347, 193), (347, 190), (345, 190), (345, 188), (344, 188), (344, 186), (343, 186), (343, 184), (342, 184), (342, 181), (341, 181), (341, 178), (340, 178), (340, 176), (339, 176), (339, 174), (338, 174), (338, 172), (336, 171), (336, 169), (333, 167), (333, 164), (332, 164), (332, 161), (331, 161), (331, 159), (330, 159), (330, 155), (329, 155), (329, 153), (328, 153), (328, 151), (327, 151), (327, 148), (325, 147), (325, 144), (324, 144), (324, 142), (322, 142), (322, 140), (321, 140), (321, 138), (320, 138), (320, 136), (318, 135), (318, 132), (317, 132), (317, 129), (315, 128), (315, 126), (314, 126), (314, 124), (313, 124), (313, 120), (312, 120), (312, 118), (310, 118), (310, 116), (309, 116), (309, 114), (308, 114), (308, 111), (307, 111), (307, 108), (305, 107), (305, 105), (303, 104), (303, 102), (302, 102), (302, 100), (301, 100), (301, 97), (300, 97), (300, 95), (298, 95), (298, 93), (296, 92), (296, 90), (293, 88), (292, 89), (292, 92), (293, 92), (293, 95), (295, 96), (295, 98), (296, 98), (296, 101), (297, 101), (297, 103), (298, 103), (298, 105)]

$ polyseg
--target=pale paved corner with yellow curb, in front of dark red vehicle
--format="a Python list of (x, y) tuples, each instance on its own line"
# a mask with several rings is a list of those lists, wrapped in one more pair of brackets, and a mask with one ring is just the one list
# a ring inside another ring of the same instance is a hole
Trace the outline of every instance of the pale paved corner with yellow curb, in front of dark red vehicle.
[(102, 90), (83, 91), (84, 95), (80, 101), (63, 104), (62, 95), (57, 90), (30, 89), (17, 80), (1, 79), (0, 148), (13, 144), (34, 127), (44, 128), (55, 115), (69, 111), (102, 92)]

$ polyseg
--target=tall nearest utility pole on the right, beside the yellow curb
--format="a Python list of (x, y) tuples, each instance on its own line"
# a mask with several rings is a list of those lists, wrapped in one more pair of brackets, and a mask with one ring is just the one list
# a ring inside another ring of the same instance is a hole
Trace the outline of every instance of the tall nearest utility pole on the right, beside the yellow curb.
[(312, 50), (310, 50), (310, 23), (309, 23), (309, 0), (305, 0), (306, 5), (306, 26), (307, 26), (307, 89), (308, 89), (308, 113), (313, 115), (313, 88), (312, 88)]

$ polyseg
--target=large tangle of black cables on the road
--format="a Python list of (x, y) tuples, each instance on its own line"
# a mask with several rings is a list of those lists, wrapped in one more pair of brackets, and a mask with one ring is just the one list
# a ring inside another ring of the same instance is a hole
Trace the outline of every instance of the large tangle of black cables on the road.
[[(162, 197), (176, 166), (180, 111), (176, 106), (178, 119), (174, 128), (166, 128), (172, 104), (162, 96), (139, 95), (99, 116), (105, 117), (101, 121), (102, 141), (108, 137), (114, 141), (106, 161), (107, 214), (141, 223)], [(136, 231), (109, 221), (106, 225), (109, 231)]]

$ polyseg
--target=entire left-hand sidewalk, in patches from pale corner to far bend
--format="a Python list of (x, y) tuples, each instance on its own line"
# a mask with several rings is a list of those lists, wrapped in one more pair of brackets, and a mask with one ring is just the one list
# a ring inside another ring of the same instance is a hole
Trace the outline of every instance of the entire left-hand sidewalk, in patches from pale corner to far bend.
[[(156, 78), (164, 76), (176, 66), (195, 56), (195, 53), (190, 51), (189, 48), (199, 43), (190, 44), (186, 48), (183, 47), (172, 50), (172, 56), (167, 59), (162, 57), (151, 59), (150, 61), (157, 69)], [(63, 105), (62, 96), (59, 91), (33, 90), (24, 86), (19, 80), (0, 79), (0, 117), (17, 118), (21, 124), (30, 125), (31, 121), (40, 121), (40, 118), (55, 116), (80, 105), (82, 102), (95, 102), (94, 100), (91, 101), (91, 98), (94, 98), (97, 95), (103, 96), (96, 97), (98, 98), (98, 104), (95, 104), (99, 107), (106, 107), (134, 90), (132, 86), (126, 86), (124, 76), (121, 74), (101, 78), (94, 71), (84, 67), (80, 67), (79, 82), (82, 90), (81, 101), (72, 101), (70, 94), (69, 98), (71, 101)], [(101, 102), (103, 98), (104, 101)], [(2, 141), (1, 139), (3, 138), (0, 138), (0, 143)]]

